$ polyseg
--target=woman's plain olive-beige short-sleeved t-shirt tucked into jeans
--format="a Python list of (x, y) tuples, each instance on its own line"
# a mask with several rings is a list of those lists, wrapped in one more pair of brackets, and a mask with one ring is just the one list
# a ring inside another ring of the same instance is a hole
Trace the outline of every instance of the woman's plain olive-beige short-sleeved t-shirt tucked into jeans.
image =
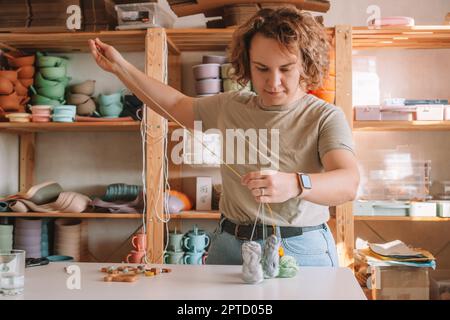
[[(196, 121), (202, 121), (202, 131), (220, 130), (222, 159), (241, 176), (266, 169), (318, 173), (323, 171), (321, 159), (328, 151), (346, 149), (353, 152), (352, 132), (342, 110), (310, 94), (286, 105), (264, 107), (253, 92), (221, 93), (196, 98), (194, 116)], [(239, 133), (233, 129), (242, 130)], [(234, 133), (230, 136), (239, 137), (244, 142), (244, 162), (241, 157), (238, 163), (238, 143), (231, 144), (232, 139), (226, 138), (226, 132)], [(249, 142), (253, 142), (253, 146)], [(273, 147), (276, 144), (278, 148)], [(254, 156), (250, 156), (255, 150), (259, 150), (256, 161)], [(239, 176), (224, 164), (220, 170), (222, 195), (219, 208), (235, 223), (251, 224), (256, 217), (262, 221), (263, 213), (265, 224), (277, 226), (315, 226), (329, 219), (327, 206), (298, 198), (271, 203), (272, 213), (267, 207), (262, 212), (250, 190), (241, 184)]]

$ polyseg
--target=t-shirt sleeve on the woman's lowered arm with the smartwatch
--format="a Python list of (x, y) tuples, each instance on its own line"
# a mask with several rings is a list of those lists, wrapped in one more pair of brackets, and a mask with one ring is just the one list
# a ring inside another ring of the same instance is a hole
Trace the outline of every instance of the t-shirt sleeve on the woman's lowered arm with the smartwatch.
[(345, 149), (355, 154), (353, 135), (344, 113), (334, 107), (323, 119), (319, 132), (320, 159), (333, 149)]

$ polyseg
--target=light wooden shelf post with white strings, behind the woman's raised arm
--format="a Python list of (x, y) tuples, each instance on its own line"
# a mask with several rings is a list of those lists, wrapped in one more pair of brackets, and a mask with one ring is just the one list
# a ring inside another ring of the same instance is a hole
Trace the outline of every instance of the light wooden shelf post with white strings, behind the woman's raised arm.
[[(145, 37), (145, 73), (167, 83), (167, 36), (164, 29), (148, 29)], [(143, 120), (144, 121), (144, 120)], [(148, 256), (152, 263), (163, 262), (164, 223), (163, 217), (163, 139), (164, 118), (145, 108), (147, 125), (146, 158), (146, 224)]]

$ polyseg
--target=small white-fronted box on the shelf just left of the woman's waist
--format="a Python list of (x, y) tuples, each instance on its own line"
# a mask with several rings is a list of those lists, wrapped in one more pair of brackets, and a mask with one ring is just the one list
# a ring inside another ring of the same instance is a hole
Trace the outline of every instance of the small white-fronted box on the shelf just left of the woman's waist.
[(211, 177), (183, 178), (183, 192), (195, 205), (195, 210), (211, 210)]

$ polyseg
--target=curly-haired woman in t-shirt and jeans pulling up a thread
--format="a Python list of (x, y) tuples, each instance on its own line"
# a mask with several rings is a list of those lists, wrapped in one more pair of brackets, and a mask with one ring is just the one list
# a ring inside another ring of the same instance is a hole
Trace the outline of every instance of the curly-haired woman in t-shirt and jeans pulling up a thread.
[[(224, 143), (224, 154), (231, 153), (234, 160), (243, 151), (245, 161), (221, 166), (222, 219), (211, 241), (208, 264), (242, 264), (243, 241), (263, 245), (276, 233), (285, 254), (294, 256), (299, 265), (338, 265), (326, 224), (328, 206), (354, 199), (359, 172), (343, 112), (306, 93), (321, 85), (328, 69), (327, 36), (310, 14), (294, 8), (263, 9), (235, 31), (234, 77), (243, 85), (251, 81), (256, 93), (188, 97), (147, 77), (98, 39), (91, 40), (90, 47), (100, 67), (114, 72), (98, 50), (186, 127), (201, 120), (203, 130), (217, 128), (225, 135), (233, 129), (238, 133), (233, 138), (244, 136), (244, 150)], [(145, 95), (137, 95), (153, 105)], [(248, 140), (253, 132), (267, 130), (270, 138), (260, 135), (257, 147)], [(267, 162), (268, 157), (260, 155), (269, 145), (274, 154)], [(256, 162), (250, 161), (255, 148)], [(271, 170), (263, 170), (267, 167)]]

